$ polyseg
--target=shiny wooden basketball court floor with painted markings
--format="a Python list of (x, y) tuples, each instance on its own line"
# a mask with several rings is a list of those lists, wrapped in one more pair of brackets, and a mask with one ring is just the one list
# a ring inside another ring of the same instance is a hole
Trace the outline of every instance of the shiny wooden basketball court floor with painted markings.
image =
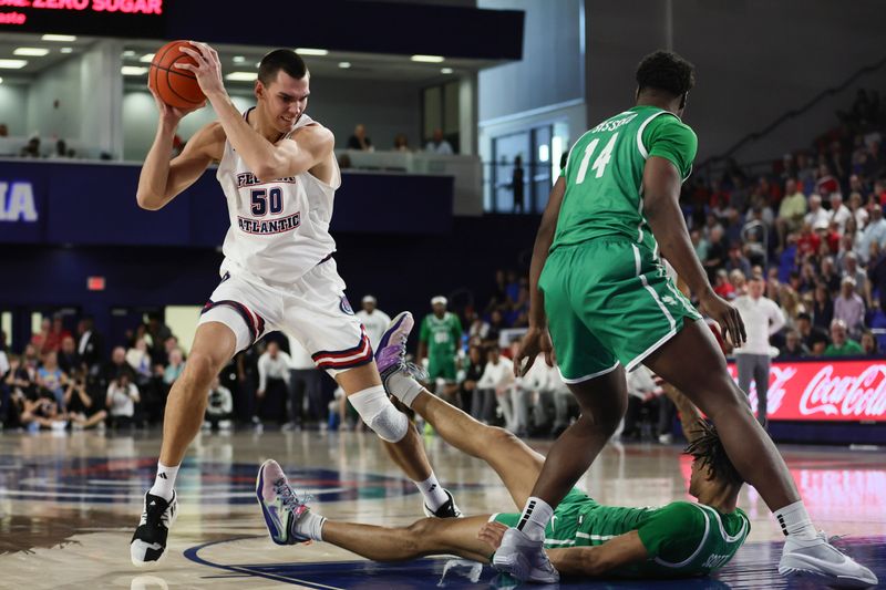
[[(465, 514), (516, 511), (495, 474), (436, 437), (429, 455)], [(545, 452), (548, 442), (533, 443)], [(421, 496), (364, 433), (203, 434), (178, 475), (179, 516), (168, 557), (152, 570), (128, 544), (154, 477), (159, 433), (0, 434), (0, 588), (513, 588), (488, 567), (454, 558), (374, 565), (331, 545), (277, 547), (254, 496), (276, 458), (321, 514), (369, 524), (420, 518)], [(882, 451), (784, 447), (817, 526), (886, 580), (886, 462)], [(610, 445), (579, 486), (612, 505), (687, 499), (689, 462), (678, 446)], [(560, 588), (815, 588), (775, 571), (781, 534), (745, 488), (748, 544), (715, 578), (678, 581), (564, 580)], [(534, 587), (552, 588), (552, 587)]]

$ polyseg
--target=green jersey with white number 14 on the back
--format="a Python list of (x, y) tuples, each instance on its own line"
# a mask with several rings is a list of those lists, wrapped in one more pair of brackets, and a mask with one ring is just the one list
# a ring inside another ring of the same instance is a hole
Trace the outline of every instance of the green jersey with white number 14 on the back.
[(657, 106), (635, 106), (585, 133), (560, 173), (566, 194), (550, 251), (617, 236), (658, 251), (643, 216), (646, 159), (667, 158), (686, 179), (697, 148), (692, 130)]

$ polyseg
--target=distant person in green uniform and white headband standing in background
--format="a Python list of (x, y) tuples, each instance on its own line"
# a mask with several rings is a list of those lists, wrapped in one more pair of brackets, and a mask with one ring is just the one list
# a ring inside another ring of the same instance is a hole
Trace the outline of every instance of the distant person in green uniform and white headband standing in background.
[(462, 322), (455, 313), (446, 311), (449, 301), (443, 296), (431, 299), (432, 313), (422, 320), (419, 333), (419, 362), (427, 359), (429, 389), (436, 391), (437, 380), (444, 382), (443, 396), (452, 402), (455, 395), (455, 355), (462, 342)]

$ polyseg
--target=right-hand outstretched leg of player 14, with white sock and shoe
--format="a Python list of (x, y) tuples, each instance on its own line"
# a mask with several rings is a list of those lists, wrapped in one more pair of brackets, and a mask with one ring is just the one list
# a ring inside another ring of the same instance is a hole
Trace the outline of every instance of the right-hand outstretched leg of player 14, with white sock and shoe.
[[(779, 519), (786, 536), (779, 563), (782, 575), (816, 577), (841, 588), (877, 583), (869, 569), (815, 530), (784, 459), (729, 376), (725, 360), (704, 324), (687, 322), (645, 364), (710, 416), (735, 469), (760, 491)], [(687, 370), (690, 365), (704, 370)]]

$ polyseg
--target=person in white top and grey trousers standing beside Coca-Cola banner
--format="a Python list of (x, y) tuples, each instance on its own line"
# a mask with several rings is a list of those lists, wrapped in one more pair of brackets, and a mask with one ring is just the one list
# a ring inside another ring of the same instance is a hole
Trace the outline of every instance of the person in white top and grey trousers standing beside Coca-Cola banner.
[(752, 276), (748, 281), (748, 294), (735, 299), (734, 306), (744, 321), (746, 342), (735, 349), (739, 371), (739, 387), (751, 391), (751, 381), (756, 385), (756, 418), (766, 427), (766, 392), (769, 391), (770, 343), (769, 339), (784, 327), (784, 315), (774, 301), (763, 296), (765, 283), (762, 277)]

